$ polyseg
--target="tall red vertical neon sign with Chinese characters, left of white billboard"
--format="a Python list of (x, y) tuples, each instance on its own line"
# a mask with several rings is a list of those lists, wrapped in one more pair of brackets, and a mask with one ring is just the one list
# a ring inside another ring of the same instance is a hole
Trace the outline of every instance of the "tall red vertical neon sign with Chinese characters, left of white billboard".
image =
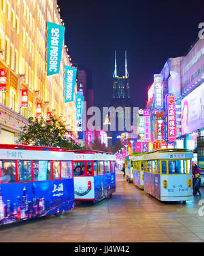
[(167, 139), (169, 142), (176, 140), (176, 110), (173, 95), (167, 95)]

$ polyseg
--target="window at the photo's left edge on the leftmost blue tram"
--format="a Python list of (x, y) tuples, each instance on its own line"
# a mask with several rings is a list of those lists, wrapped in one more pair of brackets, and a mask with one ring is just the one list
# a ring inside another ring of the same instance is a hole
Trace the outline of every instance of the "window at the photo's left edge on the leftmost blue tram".
[(16, 182), (16, 163), (13, 161), (0, 161), (0, 183)]

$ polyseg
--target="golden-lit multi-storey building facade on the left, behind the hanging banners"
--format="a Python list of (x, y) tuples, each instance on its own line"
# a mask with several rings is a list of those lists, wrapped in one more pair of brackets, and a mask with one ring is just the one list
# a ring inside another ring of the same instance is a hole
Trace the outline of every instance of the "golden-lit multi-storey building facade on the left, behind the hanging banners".
[[(65, 65), (71, 66), (68, 48), (63, 42), (59, 74), (46, 75), (47, 22), (63, 25), (56, 0), (0, 0), (0, 141), (14, 144), (27, 118), (47, 113), (61, 118), (67, 129), (77, 134), (75, 92), (71, 103), (64, 103)], [(0, 86), (1, 90), (2, 86)], [(27, 91), (27, 108), (22, 107), (22, 91)]]

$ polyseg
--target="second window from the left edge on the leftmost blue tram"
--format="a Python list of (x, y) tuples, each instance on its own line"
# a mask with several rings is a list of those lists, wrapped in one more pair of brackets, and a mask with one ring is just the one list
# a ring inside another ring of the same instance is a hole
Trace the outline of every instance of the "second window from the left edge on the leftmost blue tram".
[(31, 161), (18, 161), (18, 181), (31, 180)]

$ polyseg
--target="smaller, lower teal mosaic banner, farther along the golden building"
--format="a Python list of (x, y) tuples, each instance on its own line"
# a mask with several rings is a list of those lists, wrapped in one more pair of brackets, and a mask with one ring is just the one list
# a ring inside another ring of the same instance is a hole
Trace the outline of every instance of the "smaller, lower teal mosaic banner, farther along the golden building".
[(73, 101), (77, 71), (75, 67), (65, 66), (65, 103)]

